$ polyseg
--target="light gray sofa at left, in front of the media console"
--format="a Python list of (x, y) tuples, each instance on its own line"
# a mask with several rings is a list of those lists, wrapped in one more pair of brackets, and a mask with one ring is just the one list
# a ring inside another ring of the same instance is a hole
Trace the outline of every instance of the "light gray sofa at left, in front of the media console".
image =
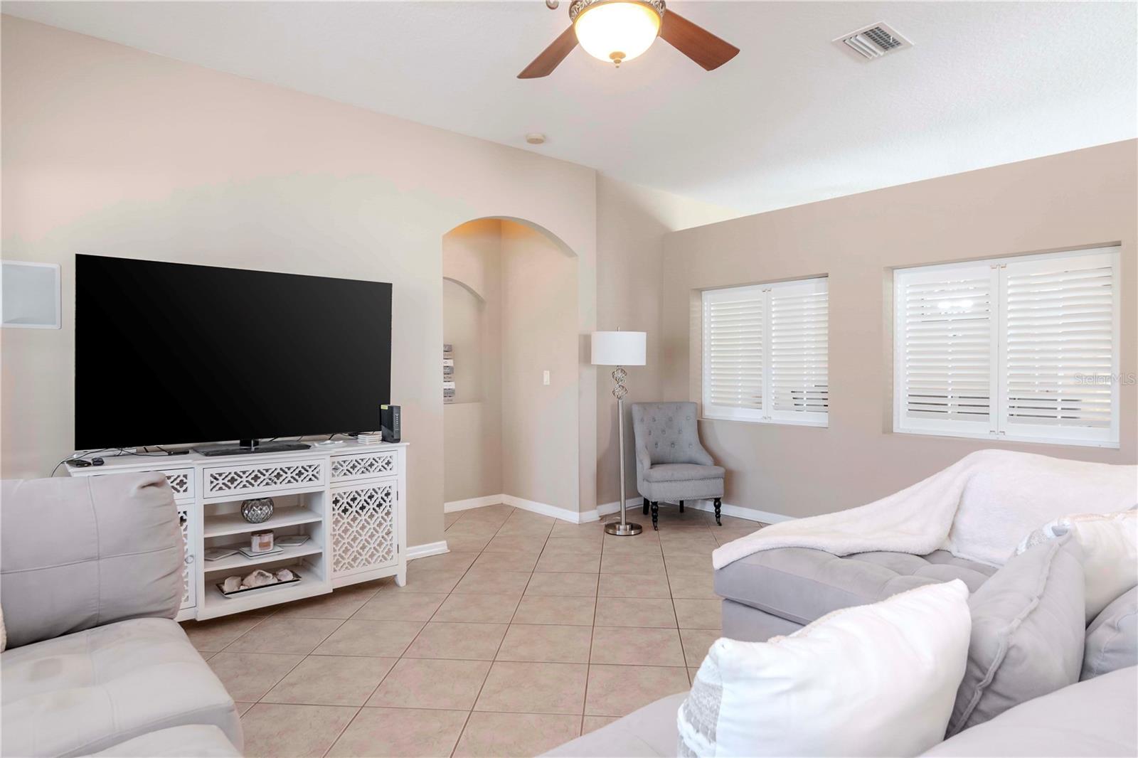
[(233, 700), (173, 620), (182, 565), (160, 473), (3, 483), (0, 755), (240, 755)]

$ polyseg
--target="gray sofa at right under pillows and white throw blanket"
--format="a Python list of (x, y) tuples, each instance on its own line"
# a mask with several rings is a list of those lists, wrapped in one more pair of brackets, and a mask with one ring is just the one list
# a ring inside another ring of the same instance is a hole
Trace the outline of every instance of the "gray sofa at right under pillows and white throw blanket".
[[(717, 570), (715, 588), (724, 599), (723, 635), (764, 641), (791, 634), (833, 610), (877, 602), (925, 584), (960, 579), (975, 592), (996, 570), (945, 551), (839, 558), (819, 550), (784, 547), (754, 553)], [(1132, 637), (1133, 617), (1116, 633)], [(546, 755), (675, 756), (676, 711), (685, 697), (658, 700)], [(925, 755), (1138, 756), (1138, 667), (1129, 662), (1028, 700), (957, 733)]]

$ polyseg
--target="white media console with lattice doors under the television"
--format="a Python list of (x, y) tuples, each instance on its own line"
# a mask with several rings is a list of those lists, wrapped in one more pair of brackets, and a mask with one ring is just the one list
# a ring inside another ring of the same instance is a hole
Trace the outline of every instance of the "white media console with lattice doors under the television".
[[(102, 465), (67, 467), (74, 477), (159, 471), (174, 491), (185, 539), (184, 592), (178, 620), (215, 618), (321, 595), (356, 582), (407, 576), (406, 443), (355, 442), (281, 453), (232, 456), (115, 455)], [(249, 524), (241, 502), (272, 497), (274, 512)], [(308, 541), (272, 555), (237, 553), (206, 561), (209, 547), (248, 546), (249, 533)], [(256, 568), (295, 568), (300, 580), (224, 596), (228, 576)]]

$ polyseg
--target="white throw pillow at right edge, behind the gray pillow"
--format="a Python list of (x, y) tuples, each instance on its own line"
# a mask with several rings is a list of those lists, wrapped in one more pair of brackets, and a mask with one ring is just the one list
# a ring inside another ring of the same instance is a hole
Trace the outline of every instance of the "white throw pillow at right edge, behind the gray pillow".
[(1015, 554), (1069, 532), (1082, 547), (1090, 624), (1115, 598), (1138, 585), (1138, 510), (1063, 516), (1024, 537)]

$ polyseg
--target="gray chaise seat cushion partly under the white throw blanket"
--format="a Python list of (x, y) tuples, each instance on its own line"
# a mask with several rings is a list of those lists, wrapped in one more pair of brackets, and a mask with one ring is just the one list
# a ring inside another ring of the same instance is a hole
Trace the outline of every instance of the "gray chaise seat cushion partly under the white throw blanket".
[(855, 553), (844, 558), (808, 547), (764, 550), (715, 572), (723, 598), (795, 624), (850, 605), (884, 600), (926, 584), (960, 579), (975, 592), (996, 569), (942, 550), (927, 555)]

